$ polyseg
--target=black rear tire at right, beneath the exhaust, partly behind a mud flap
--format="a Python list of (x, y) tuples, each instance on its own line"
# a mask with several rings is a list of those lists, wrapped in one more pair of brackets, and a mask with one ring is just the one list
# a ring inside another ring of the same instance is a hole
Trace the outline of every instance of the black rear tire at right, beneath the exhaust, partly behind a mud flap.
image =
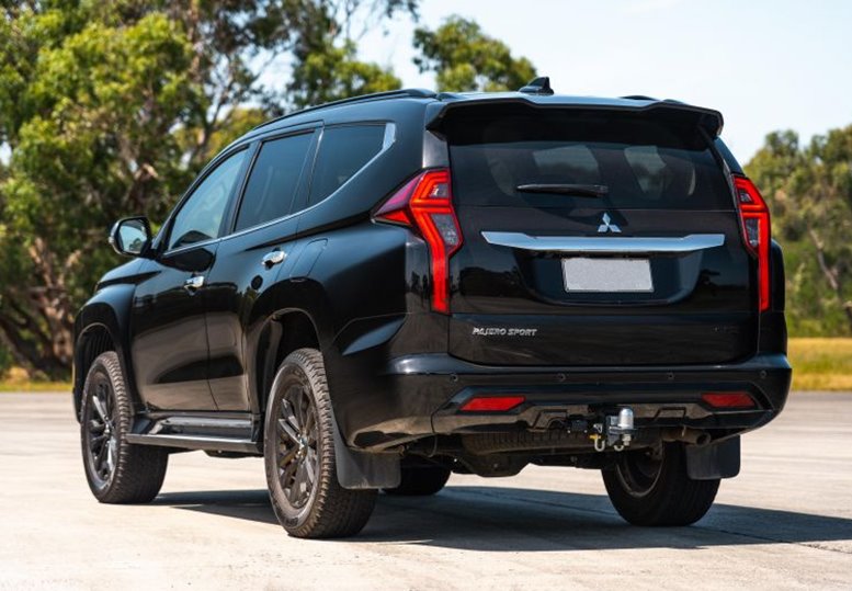
[(666, 443), (658, 452), (628, 452), (602, 470), (618, 514), (634, 525), (690, 525), (709, 510), (719, 479), (692, 480), (683, 445)]

